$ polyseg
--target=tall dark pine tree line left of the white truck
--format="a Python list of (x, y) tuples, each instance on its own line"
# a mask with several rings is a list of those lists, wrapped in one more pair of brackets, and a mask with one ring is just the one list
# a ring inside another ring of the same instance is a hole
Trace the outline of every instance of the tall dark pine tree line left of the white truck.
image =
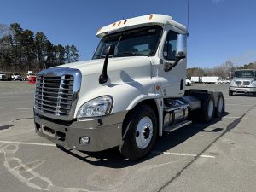
[[(47, 56), (47, 62), (44, 57)], [(26, 72), (79, 61), (75, 45), (52, 44), (44, 32), (0, 24), (0, 71)]]

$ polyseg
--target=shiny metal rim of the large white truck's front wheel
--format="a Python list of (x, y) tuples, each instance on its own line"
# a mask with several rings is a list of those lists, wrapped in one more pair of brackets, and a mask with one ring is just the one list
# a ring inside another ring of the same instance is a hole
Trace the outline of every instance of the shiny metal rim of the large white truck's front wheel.
[(136, 144), (140, 149), (147, 148), (153, 136), (153, 123), (149, 117), (143, 117), (136, 128)]

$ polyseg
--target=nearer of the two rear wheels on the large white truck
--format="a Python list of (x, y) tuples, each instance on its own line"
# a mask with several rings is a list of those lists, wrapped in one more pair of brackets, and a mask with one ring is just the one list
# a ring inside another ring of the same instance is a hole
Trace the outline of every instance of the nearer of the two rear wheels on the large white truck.
[(212, 94), (207, 94), (201, 101), (201, 121), (204, 123), (210, 122), (214, 116), (214, 109), (214, 97)]

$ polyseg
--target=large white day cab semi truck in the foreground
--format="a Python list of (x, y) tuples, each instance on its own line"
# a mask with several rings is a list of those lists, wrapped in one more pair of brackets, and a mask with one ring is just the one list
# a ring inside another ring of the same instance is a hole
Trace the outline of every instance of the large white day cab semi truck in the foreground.
[(185, 26), (144, 15), (104, 26), (90, 61), (38, 73), (34, 120), (61, 148), (126, 158), (148, 154), (157, 136), (224, 113), (221, 92), (186, 90)]

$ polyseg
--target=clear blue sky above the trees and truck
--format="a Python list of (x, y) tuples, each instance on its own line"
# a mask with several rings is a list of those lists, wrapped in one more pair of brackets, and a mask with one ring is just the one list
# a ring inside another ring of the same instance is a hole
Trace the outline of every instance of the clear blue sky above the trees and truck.
[[(53, 44), (74, 44), (90, 60), (97, 29), (140, 15), (171, 15), (187, 26), (188, 0), (0, 0), (0, 24), (44, 32)], [(188, 67), (256, 61), (255, 0), (189, 0)]]

